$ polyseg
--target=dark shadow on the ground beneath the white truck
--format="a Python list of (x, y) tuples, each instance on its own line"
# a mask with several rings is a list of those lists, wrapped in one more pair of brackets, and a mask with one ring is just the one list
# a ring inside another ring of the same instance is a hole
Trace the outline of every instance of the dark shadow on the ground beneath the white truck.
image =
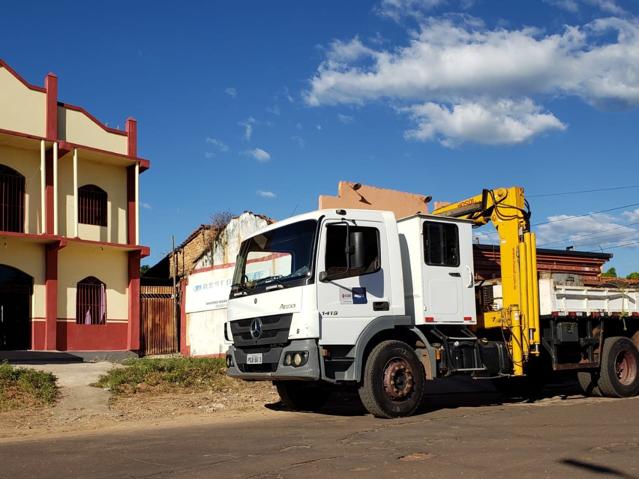
[[(442, 409), (459, 409), (462, 407), (504, 406), (507, 404), (526, 404), (543, 400), (565, 401), (583, 400), (578, 384), (573, 382), (550, 384), (540, 393), (527, 397), (505, 397), (495, 391), (489, 381), (473, 381), (470, 378), (435, 379), (426, 383), (426, 394), (415, 412), (415, 415), (432, 413)], [(289, 411), (282, 402), (265, 404), (273, 411)], [(318, 414), (330, 416), (366, 416), (357, 390), (334, 392), (327, 404)]]

